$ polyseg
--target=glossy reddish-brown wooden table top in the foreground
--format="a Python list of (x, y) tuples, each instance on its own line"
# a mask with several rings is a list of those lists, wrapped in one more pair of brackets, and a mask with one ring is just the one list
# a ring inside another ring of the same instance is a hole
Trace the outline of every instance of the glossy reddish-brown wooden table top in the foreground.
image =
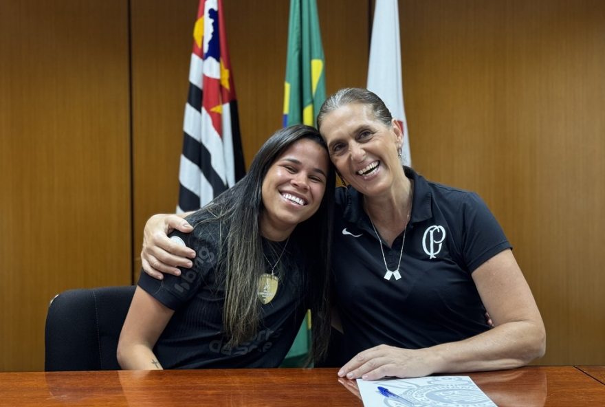
[[(0, 373), (0, 406), (362, 406), (355, 382), (336, 371)], [(499, 407), (605, 406), (605, 384), (573, 366), (468, 375)]]

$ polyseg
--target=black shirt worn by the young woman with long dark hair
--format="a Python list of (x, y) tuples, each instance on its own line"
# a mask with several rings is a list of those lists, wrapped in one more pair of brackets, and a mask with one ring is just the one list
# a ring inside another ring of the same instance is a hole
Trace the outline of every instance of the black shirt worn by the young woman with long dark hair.
[[(173, 232), (197, 257), (181, 276), (164, 274), (156, 280), (141, 272), (138, 285), (175, 313), (153, 349), (164, 369), (277, 367), (292, 346), (307, 309), (303, 285), (305, 259), (292, 239), (285, 248), (276, 274), (275, 298), (262, 305), (259, 331), (250, 340), (228, 347), (223, 329), (225, 284), (219, 261), (219, 243), (228, 233), (217, 221), (199, 223), (210, 215), (199, 210), (187, 217), (191, 233)], [(224, 246), (224, 245), (223, 245)], [(263, 250), (274, 264), (284, 243), (263, 239)], [(270, 272), (270, 270), (267, 270)]]

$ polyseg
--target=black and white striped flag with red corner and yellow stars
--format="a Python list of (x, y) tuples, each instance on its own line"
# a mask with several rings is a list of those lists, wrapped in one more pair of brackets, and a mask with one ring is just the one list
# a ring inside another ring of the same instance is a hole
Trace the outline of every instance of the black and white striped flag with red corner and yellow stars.
[(193, 30), (177, 212), (197, 210), (245, 174), (222, 0), (200, 0)]

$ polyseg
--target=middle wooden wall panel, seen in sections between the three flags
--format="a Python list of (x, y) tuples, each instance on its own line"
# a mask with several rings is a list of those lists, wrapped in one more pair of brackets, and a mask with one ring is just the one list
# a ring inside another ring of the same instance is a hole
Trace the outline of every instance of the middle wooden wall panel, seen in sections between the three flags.
[[(133, 0), (134, 280), (151, 214), (174, 212), (197, 1)], [(223, 1), (246, 166), (281, 127), (289, 1)], [(318, 1), (331, 93), (362, 86), (368, 55), (367, 0)]]

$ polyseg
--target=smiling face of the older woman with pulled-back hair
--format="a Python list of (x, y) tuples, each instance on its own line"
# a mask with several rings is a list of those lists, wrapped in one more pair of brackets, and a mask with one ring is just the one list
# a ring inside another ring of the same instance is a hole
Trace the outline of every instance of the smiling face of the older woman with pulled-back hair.
[(367, 197), (391, 192), (401, 179), (401, 130), (377, 120), (369, 105), (349, 103), (327, 113), (320, 133), (340, 175)]

